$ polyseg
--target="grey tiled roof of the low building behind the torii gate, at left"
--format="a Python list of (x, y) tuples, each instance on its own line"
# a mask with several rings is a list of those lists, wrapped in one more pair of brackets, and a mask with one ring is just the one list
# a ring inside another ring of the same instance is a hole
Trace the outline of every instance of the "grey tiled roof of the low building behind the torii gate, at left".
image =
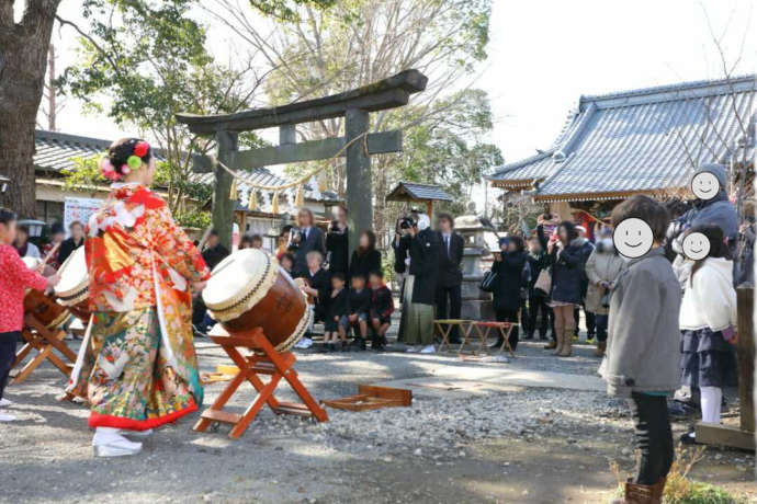
[[(111, 141), (99, 138), (80, 137), (77, 135), (67, 135), (57, 131), (47, 131), (37, 129), (35, 131), (35, 152), (34, 165), (37, 170), (46, 172), (60, 172), (61, 170), (71, 169), (75, 167), (72, 159), (75, 158), (97, 158), (104, 152), (110, 146)], [(156, 159), (165, 160), (160, 149), (155, 149)], [(215, 180), (213, 173), (196, 174), (196, 180), (207, 184), (212, 184)], [(264, 168), (259, 168), (250, 173), (250, 176), (263, 185), (283, 185), (287, 181), (276, 176)], [(332, 192), (317, 193), (309, 186), (305, 187), (305, 197), (310, 201), (318, 202), (339, 202), (339, 196)], [(244, 184), (239, 185), (239, 190), (245, 191)]]

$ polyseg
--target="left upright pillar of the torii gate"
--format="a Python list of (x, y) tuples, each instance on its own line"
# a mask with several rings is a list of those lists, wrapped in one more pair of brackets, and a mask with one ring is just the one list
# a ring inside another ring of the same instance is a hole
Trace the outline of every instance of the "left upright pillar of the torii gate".
[[(238, 135), (233, 131), (216, 134), (217, 157), (224, 165), (234, 169), (239, 149)], [(234, 177), (223, 168), (215, 167), (215, 193), (213, 194), (213, 227), (218, 231), (221, 244), (231, 250), (231, 229), (237, 203), (230, 196)]]

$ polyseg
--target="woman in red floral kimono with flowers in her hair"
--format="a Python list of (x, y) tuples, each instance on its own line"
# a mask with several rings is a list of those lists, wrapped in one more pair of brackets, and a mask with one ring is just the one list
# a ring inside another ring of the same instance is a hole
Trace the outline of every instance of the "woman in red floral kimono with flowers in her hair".
[(202, 404), (192, 290), (210, 277), (192, 241), (148, 187), (150, 146), (114, 142), (101, 162), (111, 193), (84, 243), (92, 319), (68, 390), (87, 398), (97, 456), (134, 455), (151, 429)]

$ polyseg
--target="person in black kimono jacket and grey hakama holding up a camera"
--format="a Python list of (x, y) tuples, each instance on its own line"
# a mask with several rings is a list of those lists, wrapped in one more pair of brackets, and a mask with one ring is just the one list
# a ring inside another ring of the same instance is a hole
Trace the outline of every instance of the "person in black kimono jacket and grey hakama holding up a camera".
[(418, 215), (418, 221), (408, 229), (408, 234), (410, 276), (406, 282), (411, 282), (413, 295), (406, 320), (405, 343), (408, 345), (407, 352), (432, 354), (433, 303), (439, 276), (439, 234), (430, 228), (430, 219), (426, 214)]

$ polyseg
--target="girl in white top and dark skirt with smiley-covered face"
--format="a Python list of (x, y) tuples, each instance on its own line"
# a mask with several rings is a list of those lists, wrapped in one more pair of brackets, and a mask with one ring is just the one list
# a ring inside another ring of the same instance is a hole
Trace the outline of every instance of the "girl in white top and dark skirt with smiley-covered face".
[[(703, 253), (707, 242), (710, 252), (700, 259), (698, 251)], [(732, 344), (736, 336), (733, 262), (723, 231), (716, 226), (691, 228), (683, 239), (683, 251), (694, 263), (680, 311), (681, 382), (699, 387), (702, 422), (719, 424), (723, 388), (737, 385)], [(694, 433), (685, 434), (681, 442), (693, 443)]]

